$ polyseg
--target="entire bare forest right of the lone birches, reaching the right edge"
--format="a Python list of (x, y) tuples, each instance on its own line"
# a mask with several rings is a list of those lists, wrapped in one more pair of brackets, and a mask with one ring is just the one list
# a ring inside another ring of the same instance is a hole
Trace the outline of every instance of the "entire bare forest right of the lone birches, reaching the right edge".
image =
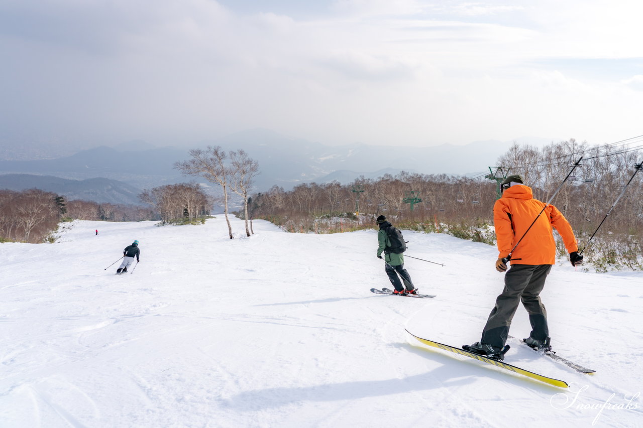
[[(574, 139), (536, 148), (514, 144), (478, 177), (408, 174), (377, 180), (306, 183), (293, 190), (273, 186), (253, 195), (251, 215), (300, 233), (332, 233), (374, 226), (384, 214), (404, 229), (446, 231), (461, 238), (494, 243), (493, 204), (498, 181), (520, 174), (534, 197), (551, 201), (568, 218), (590, 262), (599, 270), (643, 269), (643, 172), (633, 179), (590, 245), (592, 233), (643, 161), (641, 150), (590, 147)], [(572, 165), (583, 157), (563, 186)], [(419, 201), (421, 200), (421, 201)], [(561, 256), (564, 247), (559, 244)]]

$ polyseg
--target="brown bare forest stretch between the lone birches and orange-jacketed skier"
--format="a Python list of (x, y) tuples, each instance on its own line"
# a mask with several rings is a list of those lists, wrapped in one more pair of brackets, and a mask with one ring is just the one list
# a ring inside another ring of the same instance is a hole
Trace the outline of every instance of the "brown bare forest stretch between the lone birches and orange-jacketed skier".
[[(401, 174), (354, 183), (304, 183), (293, 190), (273, 186), (253, 196), (251, 215), (292, 231), (333, 233), (371, 227), (380, 214), (406, 228), (493, 218), (496, 183), (466, 177)], [(421, 199), (421, 202), (414, 201)], [(413, 206), (412, 206), (413, 205)], [(438, 226), (439, 227), (439, 226)]]

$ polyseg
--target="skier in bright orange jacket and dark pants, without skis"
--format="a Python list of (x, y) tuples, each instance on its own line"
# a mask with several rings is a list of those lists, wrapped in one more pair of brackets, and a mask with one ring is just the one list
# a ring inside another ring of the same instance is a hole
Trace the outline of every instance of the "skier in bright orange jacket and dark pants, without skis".
[(545, 286), (552, 265), (556, 263), (556, 243), (552, 227), (563, 238), (572, 266), (583, 263), (583, 256), (578, 254), (574, 231), (565, 216), (551, 204), (543, 211), (545, 202), (534, 199), (531, 188), (523, 184), (520, 175), (509, 175), (502, 182), (501, 192), (502, 197), (493, 207), (493, 222), (500, 251), (496, 271), (507, 271), (507, 260), (503, 258), (509, 256), (523, 235), (524, 238), (511, 254), (511, 269), (505, 274), (505, 288), (489, 314), (482, 330), (482, 339), (472, 345), (462, 346), (467, 351), (499, 361), (504, 359), (504, 353), (507, 352), (503, 348), (509, 335), (511, 319), (520, 301), (529, 313), (532, 328), (525, 343), (538, 350), (551, 350), (547, 311), (539, 294)]

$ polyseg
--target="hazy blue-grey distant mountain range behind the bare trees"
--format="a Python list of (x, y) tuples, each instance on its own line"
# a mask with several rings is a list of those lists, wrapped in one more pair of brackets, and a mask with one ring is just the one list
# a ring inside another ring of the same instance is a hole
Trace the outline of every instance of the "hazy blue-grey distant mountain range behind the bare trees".
[[(477, 141), (464, 146), (444, 144), (431, 147), (383, 147), (356, 143), (329, 147), (303, 139), (287, 138), (265, 129), (255, 129), (222, 139), (201, 141), (194, 148), (208, 145), (219, 145), (226, 150), (246, 150), (259, 164), (261, 174), (255, 179), (257, 190), (265, 191), (275, 184), (286, 190), (313, 181), (328, 183), (336, 180), (347, 184), (361, 175), (377, 179), (386, 173), (395, 175), (402, 170), (453, 175), (485, 172), (487, 166), (495, 165), (496, 159), (507, 151), (511, 143)], [(130, 190), (132, 194), (139, 192), (138, 189), (164, 184), (186, 181), (203, 183), (198, 177), (181, 175), (174, 169), (176, 161), (189, 159), (188, 150), (177, 147), (150, 148), (145, 141), (130, 141), (117, 148), (90, 148), (58, 159), (0, 161), (0, 174), (12, 174), (0, 181), (0, 188), (16, 188), (22, 185), (19, 184), (20, 180), (20, 183), (28, 181), (27, 177), (19, 179), (14, 174), (49, 175), (77, 183), (80, 180), (83, 184), (79, 186), (87, 189), (86, 195), (91, 193), (87, 186), (95, 184), (103, 189), (101, 193), (106, 192), (101, 197), (118, 199), (118, 195), (122, 195), (120, 202), (132, 203), (127, 192), (116, 190), (119, 186), (112, 181), (123, 182), (120, 189), (126, 186), (137, 189)], [(89, 181), (98, 178), (105, 181)], [(114, 186), (109, 192), (105, 190), (108, 186), (106, 183)], [(69, 183), (65, 185), (71, 186)], [(107, 199), (102, 202), (107, 202)]]

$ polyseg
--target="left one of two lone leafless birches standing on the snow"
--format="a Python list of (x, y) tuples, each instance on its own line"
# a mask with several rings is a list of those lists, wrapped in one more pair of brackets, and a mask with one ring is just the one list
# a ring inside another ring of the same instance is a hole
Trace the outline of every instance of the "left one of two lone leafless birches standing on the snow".
[(223, 190), (223, 212), (228, 223), (228, 235), (232, 239), (232, 226), (228, 218), (228, 187), (230, 168), (226, 165), (228, 155), (220, 146), (208, 146), (207, 150), (193, 148), (188, 152), (192, 159), (174, 163), (174, 168), (185, 175), (198, 175), (210, 183), (218, 184)]

